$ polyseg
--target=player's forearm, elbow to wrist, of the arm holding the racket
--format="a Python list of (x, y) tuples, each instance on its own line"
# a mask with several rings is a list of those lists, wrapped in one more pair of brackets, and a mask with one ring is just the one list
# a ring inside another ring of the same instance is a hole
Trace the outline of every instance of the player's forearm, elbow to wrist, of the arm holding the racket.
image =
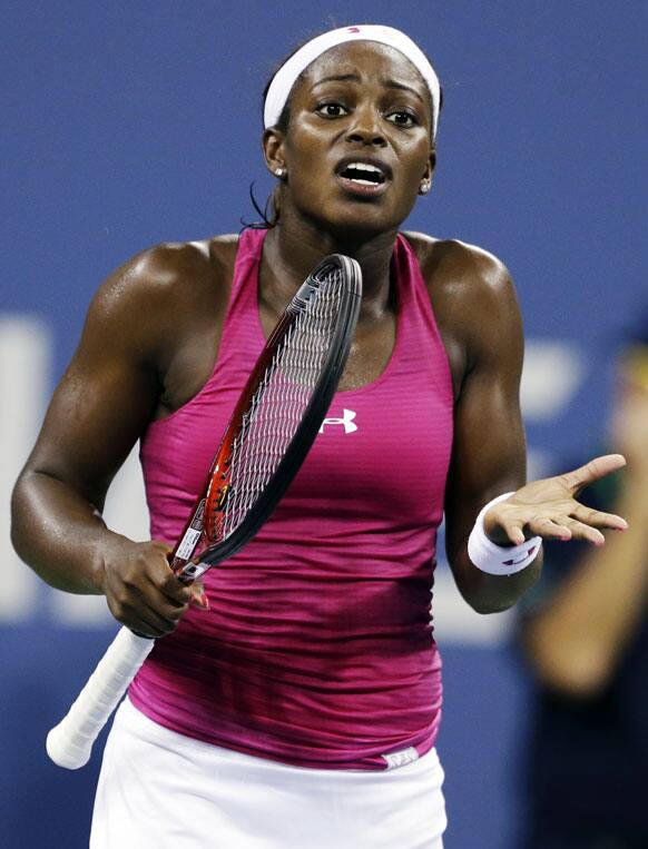
[(43, 581), (82, 594), (104, 592), (104, 554), (127, 542), (72, 487), (33, 471), (21, 475), (13, 492), (11, 540)]

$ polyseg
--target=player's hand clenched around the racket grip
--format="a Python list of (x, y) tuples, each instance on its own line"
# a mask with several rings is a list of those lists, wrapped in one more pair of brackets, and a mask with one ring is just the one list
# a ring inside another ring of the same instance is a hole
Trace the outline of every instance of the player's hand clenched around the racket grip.
[(205, 608), (199, 582), (186, 584), (173, 573), (163, 542), (124, 540), (104, 554), (100, 586), (118, 622), (143, 636), (173, 631), (193, 602)]

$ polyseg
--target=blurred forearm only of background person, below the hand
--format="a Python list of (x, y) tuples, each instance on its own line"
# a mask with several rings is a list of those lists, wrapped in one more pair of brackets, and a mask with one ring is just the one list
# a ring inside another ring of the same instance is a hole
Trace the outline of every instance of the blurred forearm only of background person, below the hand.
[(628, 530), (608, 533), (556, 599), (526, 626), (529, 657), (541, 679), (581, 694), (610, 678), (648, 599), (648, 509), (631, 487), (618, 504)]

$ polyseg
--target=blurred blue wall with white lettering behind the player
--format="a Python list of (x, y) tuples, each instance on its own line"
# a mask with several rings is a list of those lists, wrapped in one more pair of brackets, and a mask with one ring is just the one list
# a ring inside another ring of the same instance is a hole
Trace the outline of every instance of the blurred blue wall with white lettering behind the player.
[[(2, 18), (0, 826), (8, 849), (76, 849), (100, 747), (68, 773), (43, 740), (116, 625), (102, 600), (50, 590), (18, 561), (8, 504), (98, 283), (144, 247), (254, 218), (251, 181), (259, 198), (272, 185), (261, 92), (296, 43), (333, 26), (399, 27), (445, 98), (433, 191), (408, 227), (481, 245), (511, 269), (530, 473), (549, 471), (605, 441), (615, 346), (648, 294), (648, 4), (4, 0)], [(146, 539), (134, 458), (107, 516)], [(446, 847), (516, 849), (528, 683), (512, 614), (471, 613), (443, 563), (434, 605)]]

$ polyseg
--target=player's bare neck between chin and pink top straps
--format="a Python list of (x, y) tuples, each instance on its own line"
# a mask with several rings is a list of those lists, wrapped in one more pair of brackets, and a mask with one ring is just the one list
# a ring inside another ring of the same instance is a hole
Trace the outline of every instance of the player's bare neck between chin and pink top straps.
[(361, 319), (380, 317), (391, 304), (390, 265), (395, 239), (395, 230), (369, 237), (341, 236), (282, 220), (265, 238), (262, 298), (279, 313), (317, 263), (330, 254), (344, 254), (362, 270)]

